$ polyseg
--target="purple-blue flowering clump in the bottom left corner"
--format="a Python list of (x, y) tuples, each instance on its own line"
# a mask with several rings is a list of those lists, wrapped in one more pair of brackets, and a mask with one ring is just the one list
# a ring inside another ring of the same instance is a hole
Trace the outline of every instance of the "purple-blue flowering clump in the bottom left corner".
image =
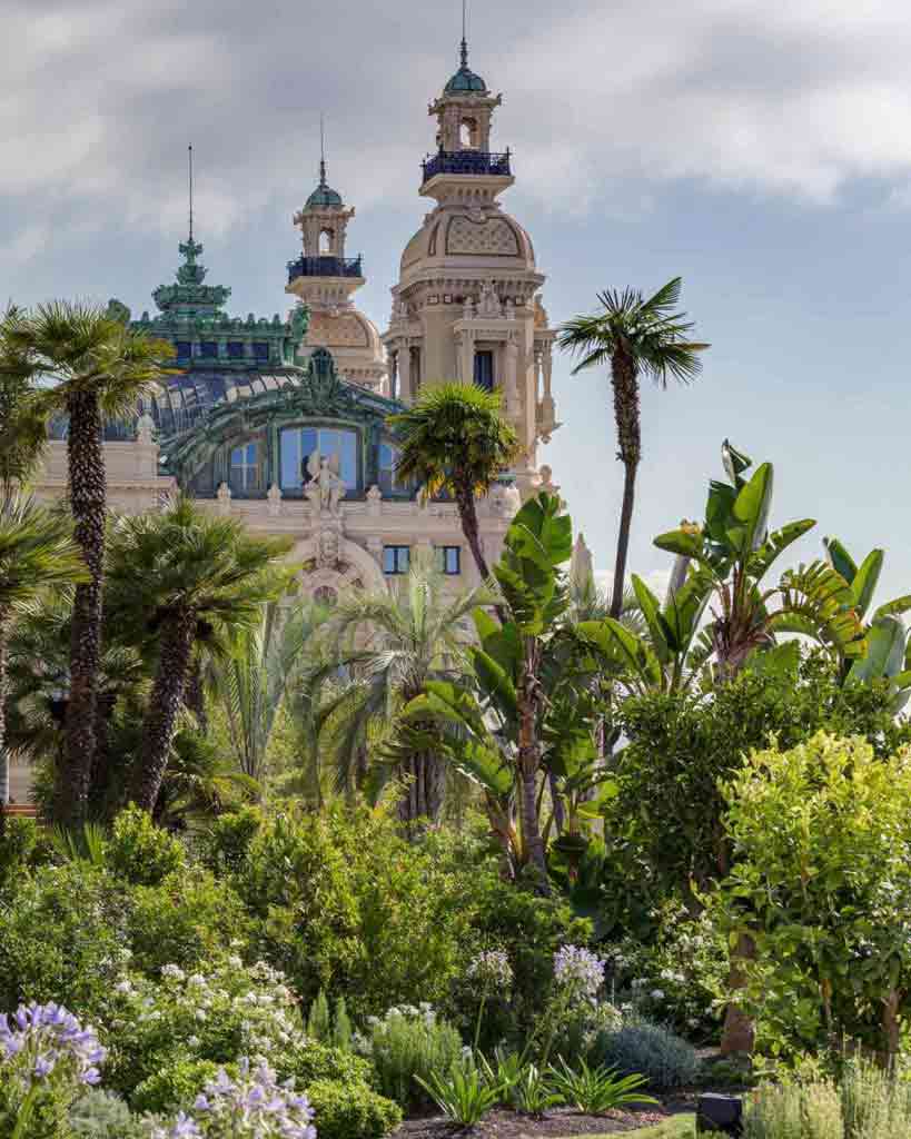
[(0, 1016), (2, 1134), (59, 1132), (80, 1089), (98, 1083), (105, 1055), (95, 1030), (52, 1001)]

